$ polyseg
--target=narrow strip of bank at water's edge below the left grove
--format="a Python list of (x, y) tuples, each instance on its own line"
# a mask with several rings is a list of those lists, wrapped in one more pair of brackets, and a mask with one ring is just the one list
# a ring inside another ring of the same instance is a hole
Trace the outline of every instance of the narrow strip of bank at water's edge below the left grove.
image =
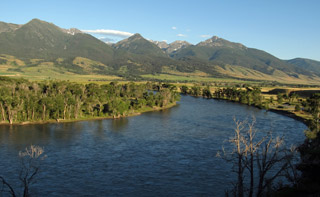
[(152, 112), (152, 111), (161, 111), (165, 109), (170, 109), (177, 105), (177, 102), (170, 103), (164, 107), (144, 107), (137, 111), (132, 111), (126, 115), (121, 116), (103, 116), (103, 117), (81, 117), (77, 119), (51, 119), (51, 120), (41, 120), (41, 121), (24, 121), (24, 122), (14, 122), (10, 124), (9, 122), (0, 122), (0, 125), (31, 125), (31, 124), (51, 124), (51, 123), (68, 123), (68, 122), (79, 122), (79, 121), (90, 121), (90, 120), (105, 120), (105, 119), (119, 119), (119, 118), (126, 118), (132, 116), (139, 116), (142, 113)]

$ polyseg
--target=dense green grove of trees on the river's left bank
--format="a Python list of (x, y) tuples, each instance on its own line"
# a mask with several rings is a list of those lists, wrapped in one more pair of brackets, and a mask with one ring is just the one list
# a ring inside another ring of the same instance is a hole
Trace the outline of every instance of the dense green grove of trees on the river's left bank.
[[(0, 120), (25, 121), (121, 117), (146, 108), (166, 107), (179, 100), (169, 84), (79, 84), (29, 82), (0, 78)], [(153, 90), (157, 90), (154, 92)]]

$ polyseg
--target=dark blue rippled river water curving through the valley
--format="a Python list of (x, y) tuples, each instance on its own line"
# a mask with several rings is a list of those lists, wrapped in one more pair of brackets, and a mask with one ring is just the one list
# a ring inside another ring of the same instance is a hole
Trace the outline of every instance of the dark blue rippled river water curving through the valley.
[[(33, 196), (223, 196), (234, 177), (215, 157), (233, 135), (233, 117), (302, 143), (301, 122), (236, 103), (182, 96), (169, 110), (119, 120), (0, 126), (0, 174), (19, 186), (18, 152), (48, 156)], [(0, 194), (1, 196), (1, 194)]]

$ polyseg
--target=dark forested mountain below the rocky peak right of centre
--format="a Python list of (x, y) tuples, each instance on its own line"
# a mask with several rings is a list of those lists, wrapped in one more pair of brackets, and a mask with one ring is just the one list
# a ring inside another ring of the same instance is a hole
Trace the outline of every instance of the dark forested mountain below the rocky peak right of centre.
[(292, 75), (295, 73), (312, 74), (265, 51), (247, 48), (242, 44), (233, 43), (216, 36), (197, 45), (186, 47), (173, 54), (172, 57), (178, 60), (198, 59), (220, 66), (242, 66), (269, 75), (272, 75), (276, 70)]

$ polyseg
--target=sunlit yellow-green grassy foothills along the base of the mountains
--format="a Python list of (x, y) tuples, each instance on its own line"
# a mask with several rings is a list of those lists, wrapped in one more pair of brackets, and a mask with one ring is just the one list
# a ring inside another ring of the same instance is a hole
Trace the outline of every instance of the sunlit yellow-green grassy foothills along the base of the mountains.
[[(109, 66), (104, 65), (100, 62), (92, 61), (90, 59), (82, 57), (75, 58), (73, 62), (70, 63), (71, 65), (69, 68), (59, 65), (64, 61), (62, 58), (58, 58), (57, 60), (55, 60), (55, 63), (45, 62), (42, 59), (31, 59), (22, 61), (16, 57), (1, 54), (0, 60), (0, 76), (9, 76), (16, 78), (21, 77), (32, 81), (69, 80), (80, 83), (106, 83), (110, 81), (125, 81), (124, 78), (115, 75), (99, 75), (99, 70), (97, 70), (97, 68), (103, 68), (104, 71), (112, 71), (113, 68), (110, 68)], [(127, 70), (127, 66), (122, 66), (119, 72), (126, 74)], [(161, 80), (174, 82), (179, 85), (186, 84), (188, 86), (193, 85), (194, 83), (211, 83), (212, 86), (219, 87), (235, 86), (236, 84), (265, 86), (266, 84), (274, 83), (274, 81), (272, 81), (272, 78), (270, 78), (271, 76), (267, 76), (263, 73), (258, 73), (257, 71), (253, 71), (247, 68), (234, 68), (226, 66), (224, 69), (222, 69), (220, 67), (217, 67), (217, 71), (219, 70), (222, 74), (230, 74), (230, 76), (239, 78), (217, 78), (198, 70), (194, 71), (193, 73), (184, 73), (166, 66), (162, 68), (162, 74), (145, 74), (141, 75), (141, 77), (143, 81)], [(250, 79), (247, 79), (246, 77)], [(292, 78), (288, 77), (284, 73), (278, 73), (277, 75), (275, 75), (275, 81), (277, 81), (276, 78), (283, 80), (282, 83), (284, 84), (287, 83), (293, 85), (314, 85), (317, 82), (316, 80), (308, 81), (307, 79), (303, 78), (299, 80), (295, 79), (295, 81), (292, 81)], [(278, 82), (280, 81), (278, 80)], [(318, 85), (320, 85), (320, 82)]]

